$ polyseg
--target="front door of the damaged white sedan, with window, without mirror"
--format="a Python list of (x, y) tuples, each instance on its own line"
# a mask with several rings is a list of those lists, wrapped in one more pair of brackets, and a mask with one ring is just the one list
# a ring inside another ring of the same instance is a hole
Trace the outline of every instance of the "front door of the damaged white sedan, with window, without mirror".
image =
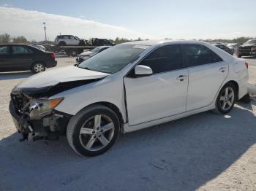
[(188, 71), (183, 69), (178, 44), (154, 50), (139, 65), (151, 67), (150, 76), (124, 77), (129, 125), (186, 111)]

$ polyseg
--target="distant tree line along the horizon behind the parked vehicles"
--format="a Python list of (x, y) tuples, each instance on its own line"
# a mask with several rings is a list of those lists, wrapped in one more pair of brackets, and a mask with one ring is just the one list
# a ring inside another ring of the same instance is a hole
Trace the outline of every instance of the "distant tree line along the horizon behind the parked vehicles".
[[(170, 38), (165, 38), (165, 39), (170, 39)], [(235, 39), (198, 39), (200, 41), (204, 42), (226, 42), (226, 43), (239, 43), (243, 44), (249, 39), (253, 39), (252, 37), (248, 36), (241, 36)], [(132, 41), (140, 41), (143, 40), (140, 37), (138, 39), (126, 39), (126, 38), (120, 38), (116, 37), (116, 39), (109, 39), (110, 42), (115, 43), (115, 44), (120, 44), (124, 42), (132, 42)], [(147, 40), (147, 39), (145, 39)], [(193, 39), (197, 40), (197, 39)], [(26, 39), (25, 36), (11, 36), (10, 34), (0, 34), (0, 44), (7, 44), (7, 43), (35, 43), (36, 41), (29, 41)], [(39, 43), (44, 43), (44, 42), (39, 42)], [(53, 42), (47, 42), (48, 44), (53, 44)]]

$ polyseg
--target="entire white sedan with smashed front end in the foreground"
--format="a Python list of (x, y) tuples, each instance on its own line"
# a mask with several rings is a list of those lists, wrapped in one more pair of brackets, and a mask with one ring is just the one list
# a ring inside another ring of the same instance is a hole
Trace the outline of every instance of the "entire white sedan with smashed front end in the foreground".
[(11, 93), (24, 139), (67, 139), (79, 155), (113, 146), (118, 133), (215, 109), (247, 95), (248, 63), (205, 42), (118, 44), (78, 66), (29, 77)]

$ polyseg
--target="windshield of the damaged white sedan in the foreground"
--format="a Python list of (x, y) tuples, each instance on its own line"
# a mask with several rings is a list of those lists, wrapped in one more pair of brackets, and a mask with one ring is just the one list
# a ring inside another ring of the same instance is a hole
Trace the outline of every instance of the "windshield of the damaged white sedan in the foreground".
[(138, 57), (148, 46), (120, 44), (83, 61), (79, 68), (113, 74)]

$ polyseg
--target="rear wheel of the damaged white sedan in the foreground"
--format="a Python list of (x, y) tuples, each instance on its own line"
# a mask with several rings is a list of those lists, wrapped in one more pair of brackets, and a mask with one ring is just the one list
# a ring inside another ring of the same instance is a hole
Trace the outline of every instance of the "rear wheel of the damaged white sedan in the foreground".
[(227, 114), (230, 112), (236, 102), (236, 97), (236, 87), (232, 83), (227, 82), (227, 84), (219, 91), (215, 112), (219, 114)]

